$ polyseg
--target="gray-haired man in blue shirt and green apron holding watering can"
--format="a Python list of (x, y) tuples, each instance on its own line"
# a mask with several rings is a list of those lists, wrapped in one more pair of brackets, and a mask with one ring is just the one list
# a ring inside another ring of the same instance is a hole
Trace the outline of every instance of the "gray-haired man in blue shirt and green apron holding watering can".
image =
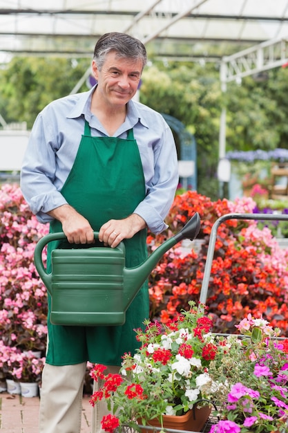
[[(97, 85), (39, 113), (21, 170), (23, 195), (50, 232), (63, 231), (71, 247), (93, 243), (93, 230), (106, 246), (124, 241), (127, 267), (146, 258), (146, 229), (166, 228), (178, 182), (171, 129), (159, 113), (132, 100), (145, 64), (139, 40), (103, 35), (92, 64)], [(122, 355), (135, 351), (133, 329), (146, 317), (147, 284), (123, 326), (53, 325), (48, 315), (41, 433), (80, 432), (86, 361), (117, 371)], [(103, 410), (96, 408), (93, 433), (101, 431)]]

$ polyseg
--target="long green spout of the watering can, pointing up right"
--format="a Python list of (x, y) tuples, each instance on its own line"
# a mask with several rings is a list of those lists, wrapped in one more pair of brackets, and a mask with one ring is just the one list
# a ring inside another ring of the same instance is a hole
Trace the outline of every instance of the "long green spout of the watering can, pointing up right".
[(135, 266), (135, 268), (124, 269), (124, 308), (128, 308), (131, 304), (135, 295), (137, 295), (137, 291), (139, 291), (142, 284), (144, 284), (148, 275), (152, 272), (153, 268), (155, 268), (164, 253), (183, 239), (193, 241), (200, 232), (200, 225), (200, 215), (196, 212), (180, 232), (162, 243), (162, 245), (152, 252), (144, 263)]

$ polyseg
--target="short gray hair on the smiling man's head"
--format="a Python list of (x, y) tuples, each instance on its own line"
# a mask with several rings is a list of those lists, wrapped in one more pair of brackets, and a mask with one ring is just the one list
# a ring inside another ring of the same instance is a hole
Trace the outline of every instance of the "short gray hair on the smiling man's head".
[(94, 57), (97, 68), (101, 71), (106, 55), (115, 51), (118, 58), (142, 60), (143, 68), (147, 62), (147, 53), (144, 44), (135, 37), (126, 33), (105, 33), (95, 45)]

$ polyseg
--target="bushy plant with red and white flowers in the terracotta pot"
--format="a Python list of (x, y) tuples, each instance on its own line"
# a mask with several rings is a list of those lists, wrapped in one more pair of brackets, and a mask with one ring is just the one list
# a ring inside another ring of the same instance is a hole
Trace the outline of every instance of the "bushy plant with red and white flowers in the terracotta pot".
[(163, 327), (149, 320), (145, 324), (145, 331), (136, 330), (142, 346), (134, 356), (124, 355), (120, 374), (106, 375), (104, 365), (95, 365), (91, 372), (95, 380), (104, 380), (104, 385), (90, 403), (104, 399), (109, 409), (113, 407), (113, 415), (102, 420), (103, 429), (113, 432), (119, 425), (139, 429), (139, 424), (155, 419), (163, 428), (165, 416), (182, 421), (188, 412), (194, 416), (195, 408), (202, 407), (200, 431), (211, 412), (209, 402), (215, 397), (207, 375), (217, 351), (209, 335), (212, 321), (191, 302), (189, 311)]

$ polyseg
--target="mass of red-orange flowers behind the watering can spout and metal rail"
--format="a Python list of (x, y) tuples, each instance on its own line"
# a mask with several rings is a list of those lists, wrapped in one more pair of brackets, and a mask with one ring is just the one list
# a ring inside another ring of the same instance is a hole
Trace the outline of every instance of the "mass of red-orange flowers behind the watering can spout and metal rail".
[[(149, 279), (151, 317), (166, 322), (188, 308), (190, 300), (198, 302), (213, 223), (229, 212), (253, 213), (255, 206), (246, 197), (212, 203), (193, 191), (176, 196), (167, 219), (169, 230), (177, 232), (194, 212), (199, 212), (204, 244), (200, 252), (191, 250), (185, 256), (179, 246), (166, 252)], [(153, 250), (170, 235), (169, 231), (150, 235), (149, 248)], [(264, 315), (287, 335), (287, 259), (288, 250), (278, 246), (269, 228), (260, 230), (257, 221), (231, 220), (220, 225), (207, 299), (216, 332), (233, 332), (235, 324), (251, 313), (255, 317)]]

